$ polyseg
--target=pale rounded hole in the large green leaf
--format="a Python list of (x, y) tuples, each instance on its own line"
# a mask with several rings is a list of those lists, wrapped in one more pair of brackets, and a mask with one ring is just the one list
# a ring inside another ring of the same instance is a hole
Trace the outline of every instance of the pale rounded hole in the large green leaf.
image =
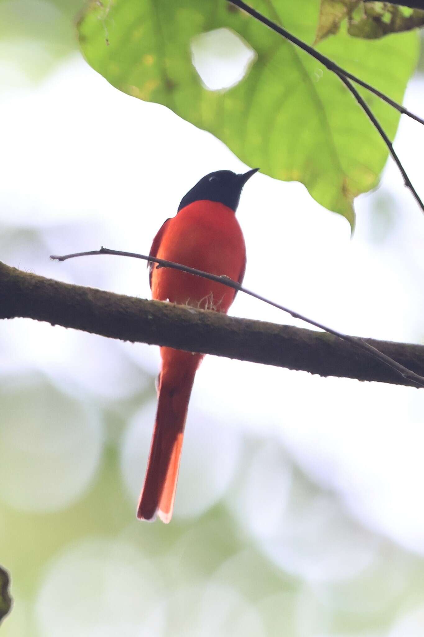
[(256, 51), (234, 31), (215, 29), (191, 40), (193, 66), (208, 90), (230, 89), (249, 73)]

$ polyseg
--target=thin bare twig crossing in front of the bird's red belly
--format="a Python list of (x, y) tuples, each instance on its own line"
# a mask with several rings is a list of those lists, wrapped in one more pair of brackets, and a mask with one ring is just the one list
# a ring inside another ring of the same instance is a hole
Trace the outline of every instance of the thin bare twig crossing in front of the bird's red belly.
[(371, 356), (373, 356), (374, 359), (377, 359), (378, 361), (381, 361), (385, 363), (386, 365), (388, 365), (390, 368), (395, 369), (395, 371), (397, 371), (401, 376), (403, 376), (404, 378), (409, 378), (409, 380), (415, 382), (416, 385), (418, 385), (419, 387), (424, 387), (423, 376), (420, 376), (419, 374), (416, 374), (415, 372), (411, 371), (411, 369), (407, 369), (400, 363), (393, 361), (392, 358), (390, 358), (386, 354), (383, 354), (383, 352), (380, 352), (380, 350), (373, 347), (373, 345), (369, 345), (369, 343), (362, 340), (362, 338), (348, 336), (348, 334), (343, 334), (341, 332), (336, 331), (335, 329), (332, 329), (331, 327), (326, 327), (322, 325), (321, 323), (318, 323), (317, 321), (312, 320), (311, 318), (306, 318), (303, 315), (293, 310), (289, 310), (288, 308), (285, 308), (283, 305), (280, 305), (279, 303), (270, 301), (270, 299), (266, 299), (264, 296), (261, 296), (260, 294), (256, 294), (256, 292), (252, 292), (251, 290), (248, 290), (247, 288), (242, 287), (240, 283), (233, 281), (228, 276), (212, 275), (209, 272), (203, 272), (202, 270), (198, 270), (196, 268), (189, 268), (188, 266), (183, 266), (181, 263), (175, 263), (174, 261), (167, 261), (166, 259), (158, 259), (158, 257), (150, 257), (144, 254), (137, 254), (136, 252), (122, 252), (121, 250), (109, 250), (109, 248), (104, 248), (103, 246), (100, 248), (100, 250), (91, 250), (90, 252), (75, 252), (74, 254), (65, 254), (61, 256), (51, 255), (50, 259), (53, 259), (55, 261), (66, 261), (67, 259), (73, 259), (74, 257), (89, 257), (92, 255), (99, 255), (99, 254), (111, 254), (111, 255), (117, 255), (120, 257), (133, 257), (134, 259), (142, 259), (143, 261), (157, 263), (161, 268), (173, 268), (176, 270), (180, 270), (182, 272), (187, 272), (188, 274), (191, 274), (191, 275), (202, 276), (202, 278), (209, 279), (210, 281), (215, 281), (217, 283), (222, 283), (222, 285), (226, 285), (227, 287), (231, 287), (234, 290), (238, 290), (238, 292), (249, 294), (249, 296), (252, 296), (255, 299), (258, 299), (259, 301), (263, 301), (263, 303), (268, 303), (268, 305), (272, 305), (278, 310), (287, 312), (294, 318), (299, 318), (300, 320), (303, 320), (304, 322), (310, 325), (318, 327), (319, 329), (322, 329), (329, 334), (333, 334), (333, 336), (337, 336), (338, 338), (341, 338), (341, 340), (346, 341), (347, 343), (350, 343), (350, 345), (353, 345), (353, 347), (360, 349), (364, 352), (367, 352), (368, 354), (371, 354)]

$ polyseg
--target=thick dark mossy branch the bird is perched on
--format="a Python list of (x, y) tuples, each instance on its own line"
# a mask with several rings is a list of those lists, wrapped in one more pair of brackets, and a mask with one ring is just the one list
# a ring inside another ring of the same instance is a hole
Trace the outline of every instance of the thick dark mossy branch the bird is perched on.
[[(0, 318), (15, 317), (320, 376), (417, 386), (411, 378), (399, 375), (369, 354), (357, 352), (350, 343), (331, 334), (70, 285), (0, 262)], [(371, 339), (358, 341), (378, 348), (416, 374), (424, 374), (423, 346)]]

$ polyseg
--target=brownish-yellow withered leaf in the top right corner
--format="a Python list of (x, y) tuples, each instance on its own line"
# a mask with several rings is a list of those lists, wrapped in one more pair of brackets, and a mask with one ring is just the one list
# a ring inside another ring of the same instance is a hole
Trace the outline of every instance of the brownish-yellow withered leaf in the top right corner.
[(321, 0), (315, 44), (336, 34), (347, 18), (348, 34), (355, 38), (383, 38), (424, 24), (424, 11), (390, 3), (362, 0)]

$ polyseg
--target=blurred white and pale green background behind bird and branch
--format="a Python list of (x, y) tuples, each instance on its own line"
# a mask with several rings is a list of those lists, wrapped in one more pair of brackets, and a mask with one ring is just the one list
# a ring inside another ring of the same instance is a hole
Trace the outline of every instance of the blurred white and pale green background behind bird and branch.
[[(0, 2), (0, 259), (149, 297), (139, 262), (48, 256), (146, 253), (201, 176), (246, 167), (90, 69), (79, 8)], [(246, 63), (210, 43), (195, 54), (213, 89)], [(423, 71), (405, 97), (421, 115)], [(423, 128), (402, 120), (395, 147), (420, 190)], [(238, 210), (245, 285), (340, 331), (423, 342), (424, 219), (392, 162), (356, 209), (351, 240), (302, 185), (255, 176)], [(231, 313), (300, 325), (242, 294)], [(156, 347), (2, 322), (2, 635), (421, 637), (424, 394), (209, 356), (174, 519), (142, 524), (158, 365)]]

